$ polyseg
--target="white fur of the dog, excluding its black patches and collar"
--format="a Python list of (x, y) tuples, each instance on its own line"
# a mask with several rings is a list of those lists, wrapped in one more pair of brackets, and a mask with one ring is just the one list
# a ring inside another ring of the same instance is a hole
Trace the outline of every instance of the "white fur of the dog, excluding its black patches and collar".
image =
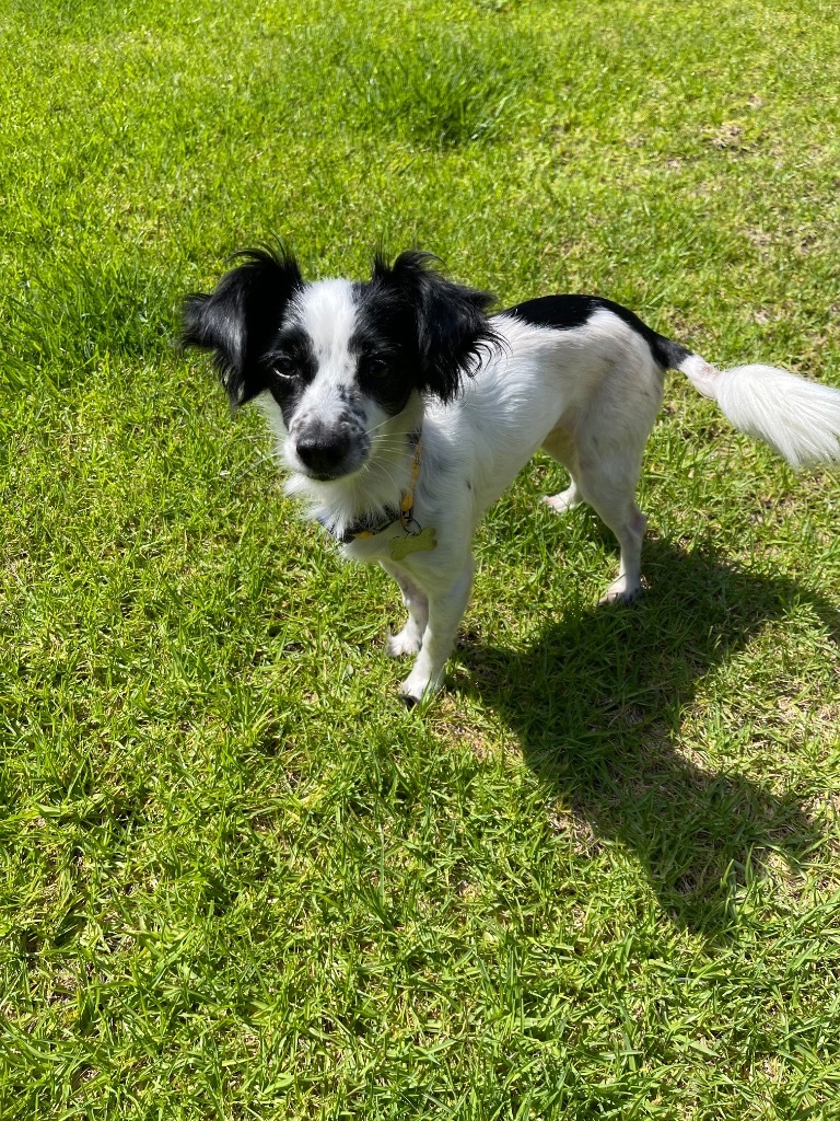
[[(320, 363), (299, 414), (316, 410), (328, 417), (336, 386), (352, 377), (352, 288), (345, 281), (312, 285), (295, 315)], [(663, 370), (642, 335), (607, 308), (568, 330), (505, 314), (493, 324), (502, 345), (487, 351), (451, 404), (413, 393), (395, 417), (371, 408), (371, 454), (345, 478), (318, 482), (301, 473), (293, 450), (298, 415), (289, 433), (272, 398), (263, 393), (259, 399), (292, 471), (288, 490), (338, 535), (363, 515), (399, 502), (411, 478), (409, 436), (422, 426), (414, 518), (436, 529), (438, 548), (395, 563), (390, 543), (399, 525), (344, 546), (347, 557), (379, 562), (401, 589), (409, 619), (389, 640), (388, 652), (417, 654), (402, 685), (412, 701), (442, 684), (469, 597), (478, 522), (539, 447), (572, 476), (568, 490), (547, 499), (549, 506), (562, 513), (586, 501), (618, 538), (619, 572), (605, 600), (632, 599), (641, 590), (646, 522), (634, 494), (662, 398)], [(769, 367), (718, 371), (693, 354), (680, 369), (737, 428), (771, 444), (794, 466), (840, 457), (839, 390)]]

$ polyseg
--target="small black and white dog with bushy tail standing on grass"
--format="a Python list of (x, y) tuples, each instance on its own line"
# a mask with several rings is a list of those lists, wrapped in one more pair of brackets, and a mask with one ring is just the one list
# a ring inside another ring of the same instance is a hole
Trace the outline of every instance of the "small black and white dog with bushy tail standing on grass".
[(634, 494), (665, 370), (794, 466), (840, 458), (840, 390), (773, 367), (717, 370), (609, 300), (545, 296), (489, 316), (486, 293), (420, 252), (377, 258), (366, 281), (316, 282), (284, 251), (242, 256), (187, 299), (184, 342), (214, 352), (232, 405), (256, 399), (288, 491), (345, 556), (400, 585), (409, 618), (388, 652), (418, 655), (409, 702), (440, 688), (476, 526), (540, 447), (571, 474), (551, 509), (588, 502), (618, 538), (605, 600), (638, 594)]

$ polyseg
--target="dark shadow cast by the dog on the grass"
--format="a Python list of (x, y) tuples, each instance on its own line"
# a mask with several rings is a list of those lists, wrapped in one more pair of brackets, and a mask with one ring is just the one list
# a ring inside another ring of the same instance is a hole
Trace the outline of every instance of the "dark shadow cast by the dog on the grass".
[(520, 654), (466, 645), (460, 660), (467, 688), (516, 734), (579, 854), (605, 843), (632, 850), (674, 921), (725, 938), (755, 871), (775, 853), (795, 874), (821, 833), (795, 793), (738, 772), (732, 759), (748, 736), (732, 711), (708, 733), (722, 742), (724, 768), (683, 722), (696, 700), (704, 703), (700, 683), (768, 622), (804, 604), (837, 642), (840, 613), (792, 581), (717, 560), (711, 548), (651, 540), (644, 564), (651, 590), (640, 602), (552, 621)]

